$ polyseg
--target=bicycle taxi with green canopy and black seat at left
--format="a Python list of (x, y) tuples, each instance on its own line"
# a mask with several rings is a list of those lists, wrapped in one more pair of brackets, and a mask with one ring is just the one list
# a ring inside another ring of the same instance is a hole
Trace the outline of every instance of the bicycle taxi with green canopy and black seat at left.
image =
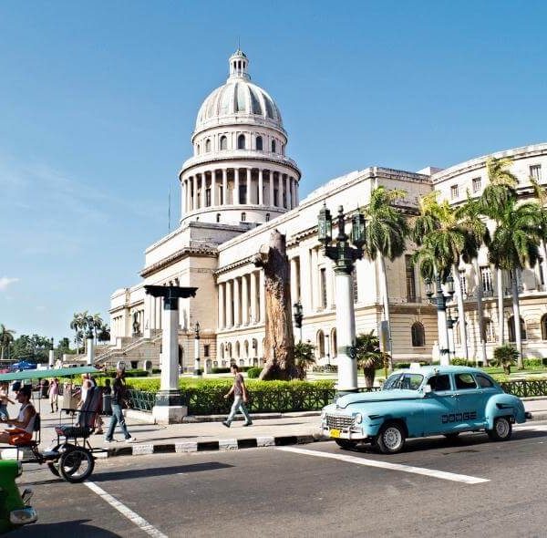
[[(45, 370), (26, 370), (10, 374), (0, 374), (1, 381), (68, 378), (81, 374), (96, 373), (94, 367), (70, 367)], [(41, 419), (40, 401), (36, 409), (33, 440), (17, 443), (14, 446), (2, 446), (0, 449), (15, 450), (15, 459), (21, 463), (46, 463), (49, 470), (66, 481), (76, 483), (85, 481), (95, 468), (95, 458), (98, 452), (106, 450), (93, 448), (89, 437), (95, 431), (98, 414), (102, 404), (102, 392), (98, 387), (88, 389), (86, 401), (80, 409), (60, 409), (59, 424), (55, 426), (57, 440), (47, 450), (40, 450)], [(35, 406), (36, 408), (36, 406)], [(62, 413), (67, 413), (63, 418)], [(11, 458), (10, 458), (11, 459)]]

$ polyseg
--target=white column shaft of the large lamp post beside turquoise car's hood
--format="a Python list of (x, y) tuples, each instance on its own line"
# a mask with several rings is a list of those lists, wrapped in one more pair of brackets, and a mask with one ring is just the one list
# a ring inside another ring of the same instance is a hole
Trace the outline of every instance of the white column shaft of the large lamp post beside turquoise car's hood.
[(357, 361), (356, 358), (348, 355), (350, 347), (353, 347), (356, 340), (356, 315), (351, 274), (335, 270), (335, 281), (338, 392), (356, 392)]

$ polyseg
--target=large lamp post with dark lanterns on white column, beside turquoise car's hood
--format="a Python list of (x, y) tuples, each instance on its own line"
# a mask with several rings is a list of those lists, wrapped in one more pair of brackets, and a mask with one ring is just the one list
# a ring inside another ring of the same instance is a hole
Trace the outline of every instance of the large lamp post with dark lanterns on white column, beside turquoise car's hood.
[[(357, 391), (356, 313), (353, 301), (353, 273), (356, 260), (363, 257), (365, 244), (365, 217), (357, 212), (351, 220), (351, 240), (346, 234), (344, 208), (338, 208), (338, 235), (333, 242), (333, 219), (323, 204), (319, 212), (318, 240), (323, 254), (335, 262), (336, 336), (338, 341), (338, 394)], [(351, 243), (354, 246), (351, 246)]]

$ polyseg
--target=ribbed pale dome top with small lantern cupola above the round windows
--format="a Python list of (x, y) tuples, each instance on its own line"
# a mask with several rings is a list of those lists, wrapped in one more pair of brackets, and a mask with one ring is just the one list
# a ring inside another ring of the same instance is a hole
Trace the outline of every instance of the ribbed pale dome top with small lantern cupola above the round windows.
[[(241, 50), (230, 57), (230, 77), (226, 84), (216, 88), (201, 105), (196, 119), (195, 132), (214, 125), (245, 118), (245, 123), (256, 119), (257, 123), (283, 129), (281, 113), (273, 98), (251, 82), (247, 73), (249, 59)], [(235, 118), (234, 118), (235, 117)]]

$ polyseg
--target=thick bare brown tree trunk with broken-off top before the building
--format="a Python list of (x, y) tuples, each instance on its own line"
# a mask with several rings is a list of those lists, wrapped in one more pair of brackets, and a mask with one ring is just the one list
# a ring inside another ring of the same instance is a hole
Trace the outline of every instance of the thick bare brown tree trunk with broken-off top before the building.
[(270, 244), (254, 257), (263, 267), (265, 287), (265, 364), (260, 379), (298, 378), (294, 366), (294, 336), (291, 311), (291, 266), (285, 236), (274, 230)]

